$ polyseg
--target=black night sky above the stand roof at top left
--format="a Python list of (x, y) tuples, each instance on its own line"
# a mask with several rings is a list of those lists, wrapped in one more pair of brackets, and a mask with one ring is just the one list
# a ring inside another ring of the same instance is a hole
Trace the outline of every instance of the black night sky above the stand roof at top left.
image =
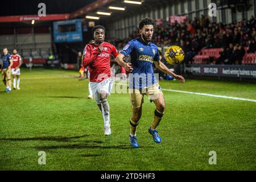
[(72, 13), (96, 0), (9, 0), (1, 3), (0, 16), (36, 15), (38, 4), (46, 4), (46, 14)]

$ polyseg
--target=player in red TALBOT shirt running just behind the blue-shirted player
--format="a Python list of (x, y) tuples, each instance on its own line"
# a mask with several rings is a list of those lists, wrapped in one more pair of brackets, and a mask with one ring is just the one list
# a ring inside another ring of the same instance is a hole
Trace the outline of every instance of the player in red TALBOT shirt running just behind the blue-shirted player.
[[(93, 98), (98, 105), (104, 119), (105, 136), (111, 135), (109, 103), (107, 97), (113, 85), (113, 77), (110, 71), (110, 56), (117, 57), (117, 49), (110, 43), (104, 42), (105, 27), (98, 25), (93, 27), (94, 43), (89, 43), (84, 48), (82, 65), (89, 66), (90, 88)], [(122, 76), (126, 78), (126, 71), (121, 67)]]

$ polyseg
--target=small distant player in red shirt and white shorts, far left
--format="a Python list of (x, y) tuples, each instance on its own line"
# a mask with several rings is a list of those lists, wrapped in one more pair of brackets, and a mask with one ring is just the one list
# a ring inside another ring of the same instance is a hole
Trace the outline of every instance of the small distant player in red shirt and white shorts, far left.
[[(20, 66), (22, 65), (22, 59), (17, 53), (17, 49), (13, 49), (13, 55), (11, 55), (13, 65), (11, 66), (11, 75), (13, 75), (13, 88), (19, 90), (20, 83)], [(16, 82), (17, 77), (17, 82)]]

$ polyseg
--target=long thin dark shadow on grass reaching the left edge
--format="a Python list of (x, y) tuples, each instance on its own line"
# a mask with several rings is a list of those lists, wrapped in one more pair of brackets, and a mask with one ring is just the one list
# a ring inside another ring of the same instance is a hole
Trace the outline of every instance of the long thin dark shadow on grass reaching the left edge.
[(81, 136), (75, 136), (75, 137), (0, 138), (0, 140), (7, 140), (7, 141), (33, 141), (33, 140), (40, 140), (40, 141), (71, 142), (70, 139), (78, 139), (78, 138), (88, 137), (88, 136), (89, 135), (81, 135)]

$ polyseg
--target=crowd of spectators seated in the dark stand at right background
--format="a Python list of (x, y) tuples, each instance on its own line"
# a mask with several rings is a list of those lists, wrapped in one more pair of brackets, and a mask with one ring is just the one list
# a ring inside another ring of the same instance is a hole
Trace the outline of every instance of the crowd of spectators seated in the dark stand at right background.
[[(192, 63), (193, 57), (201, 49), (222, 48), (220, 58), (212, 64), (241, 64), (245, 53), (254, 53), (256, 48), (256, 20), (234, 21), (230, 24), (210, 22), (208, 16), (194, 18), (183, 23), (163, 22), (155, 26), (153, 41), (157, 46), (177, 45), (185, 52), (184, 63)], [(124, 40), (111, 39), (110, 42), (122, 49), (125, 44), (138, 38), (138, 31), (132, 32)]]

